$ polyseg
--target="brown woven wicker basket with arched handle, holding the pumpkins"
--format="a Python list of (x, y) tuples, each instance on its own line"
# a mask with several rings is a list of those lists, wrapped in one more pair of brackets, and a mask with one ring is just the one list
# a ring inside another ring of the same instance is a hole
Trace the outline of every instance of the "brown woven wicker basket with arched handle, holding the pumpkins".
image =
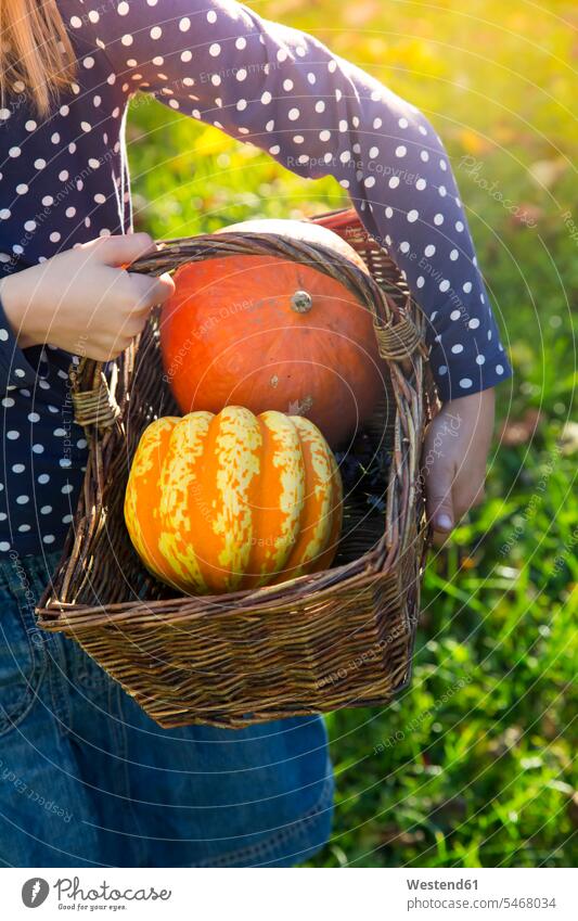
[(383, 704), (410, 680), (427, 546), (419, 465), (436, 407), (424, 319), (352, 208), (314, 221), (347, 240), (371, 277), (322, 247), (235, 232), (167, 241), (131, 270), (156, 274), (192, 259), (274, 254), (316, 265), (370, 305), (390, 371), (389, 411), (368, 427), (376, 450), (390, 457), (386, 511), (360, 514), (346, 503), (332, 568), (270, 588), (175, 598), (141, 564), (123, 517), (143, 428), (176, 412), (163, 383), (158, 317), (112, 373), (87, 359), (72, 371), (89, 459), (62, 560), (37, 609), (39, 625), (73, 637), (163, 727), (241, 727)]

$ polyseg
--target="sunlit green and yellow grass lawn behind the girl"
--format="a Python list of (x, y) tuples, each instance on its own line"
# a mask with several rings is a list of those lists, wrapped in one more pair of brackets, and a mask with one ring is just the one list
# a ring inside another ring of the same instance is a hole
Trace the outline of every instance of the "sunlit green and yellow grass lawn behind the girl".
[[(578, 243), (563, 215), (576, 201), (574, 4), (254, 9), (314, 33), (434, 121), (515, 368), (499, 391), (506, 437), (496, 439), (488, 501), (431, 560), (411, 689), (387, 709), (327, 718), (335, 833), (312, 866), (569, 866), (578, 857), (578, 432), (568, 425)], [(158, 236), (347, 204), (334, 180), (305, 182), (151, 101), (134, 105), (128, 138), (136, 223)], [(515, 444), (528, 412), (536, 431), (526, 422)]]

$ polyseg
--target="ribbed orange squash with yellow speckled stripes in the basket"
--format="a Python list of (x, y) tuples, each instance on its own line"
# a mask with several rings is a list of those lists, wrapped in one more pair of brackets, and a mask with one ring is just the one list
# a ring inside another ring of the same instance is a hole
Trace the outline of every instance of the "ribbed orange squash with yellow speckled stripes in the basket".
[(166, 417), (140, 439), (125, 521), (144, 565), (181, 591), (256, 588), (331, 565), (341, 476), (308, 419), (242, 407)]

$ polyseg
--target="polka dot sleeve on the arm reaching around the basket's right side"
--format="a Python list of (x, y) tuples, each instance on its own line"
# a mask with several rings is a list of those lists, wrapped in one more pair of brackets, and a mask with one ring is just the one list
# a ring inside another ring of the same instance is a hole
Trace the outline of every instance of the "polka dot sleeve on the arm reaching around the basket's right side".
[[(85, 10), (87, 4), (85, 3)], [(511, 373), (447, 154), (412, 105), (313, 36), (232, 0), (123, 0), (76, 17), (128, 95), (333, 176), (394, 256), (429, 320), (444, 400)]]

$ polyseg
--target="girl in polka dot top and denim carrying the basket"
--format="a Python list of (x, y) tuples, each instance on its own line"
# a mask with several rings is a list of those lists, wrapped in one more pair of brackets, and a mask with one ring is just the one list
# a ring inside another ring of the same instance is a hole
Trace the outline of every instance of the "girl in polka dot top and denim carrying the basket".
[[(170, 294), (121, 268), (132, 234), (124, 125), (137, 91), (333, 176), (429, 320), (444, 401), (428, 510), (479, 501), (492, 387), (510, 373), (455, 182), (412, 105), (312, 36), (234, 0), (0, 0), (0, 859), (13, 866), (292, 866), (330, 832), (320, 718), (162, 731), (34, 603), (87, 445), (72, 356), (117, 356)], [(459, 420), (459, 424), (455, 424)]]

